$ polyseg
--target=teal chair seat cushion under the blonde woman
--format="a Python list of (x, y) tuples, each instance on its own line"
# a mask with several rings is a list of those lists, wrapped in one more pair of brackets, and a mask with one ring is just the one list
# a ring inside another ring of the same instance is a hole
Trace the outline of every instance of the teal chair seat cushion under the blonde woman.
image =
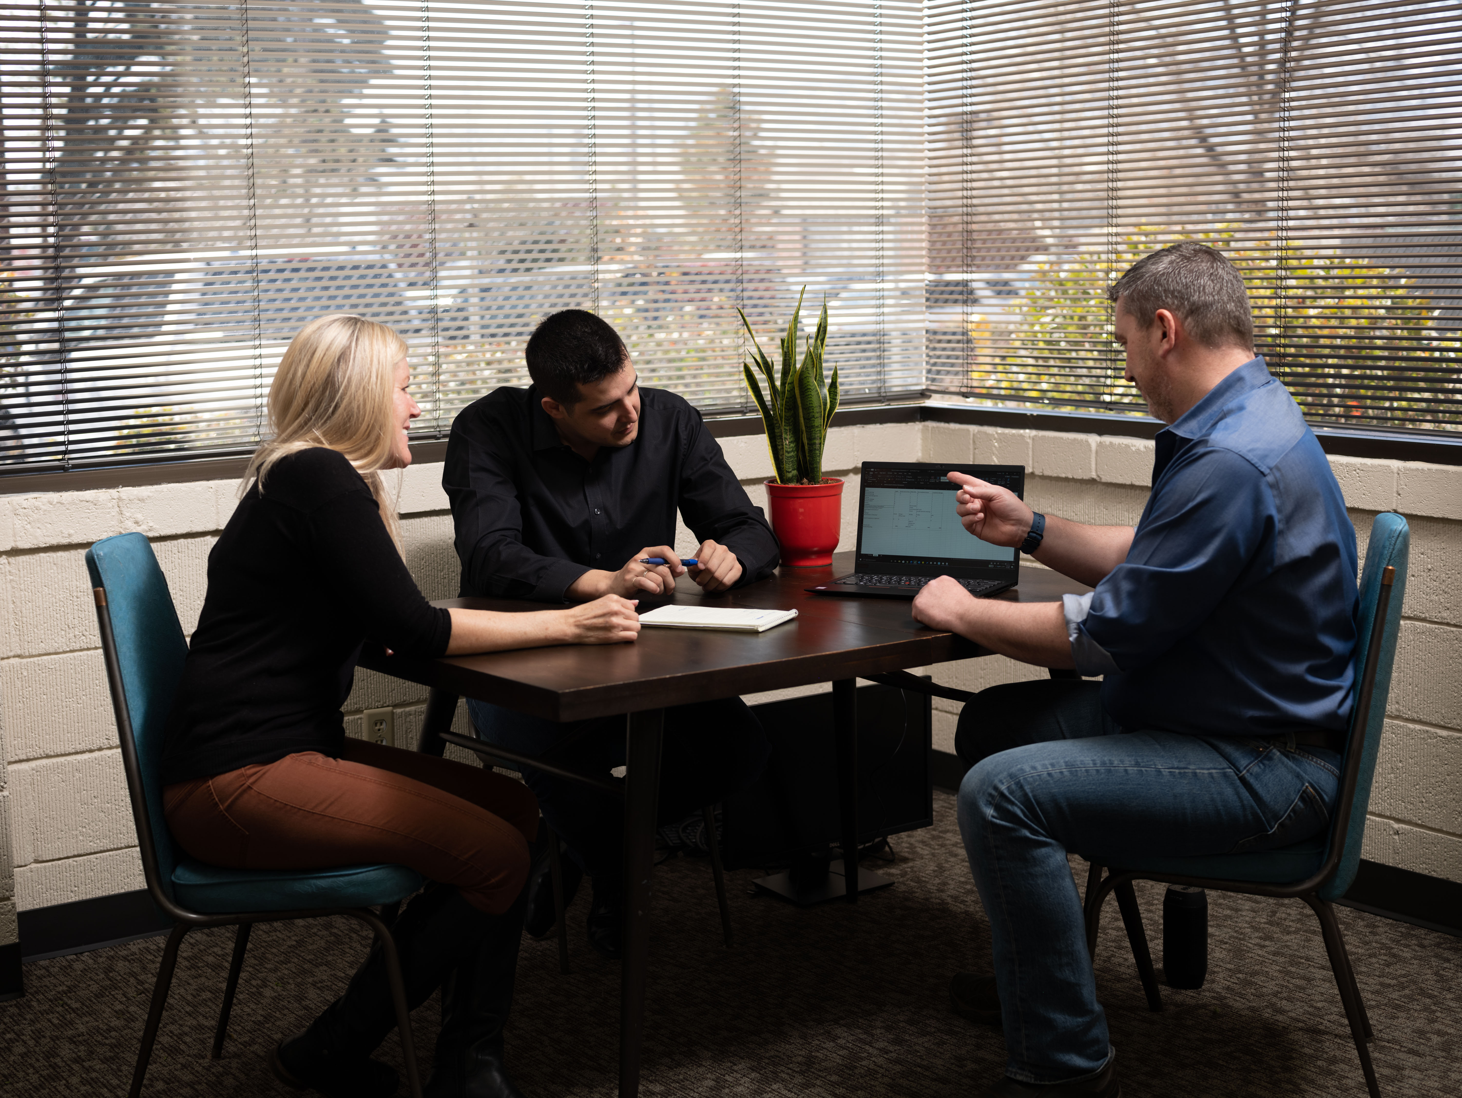
[(405, 866), (225, 870), (184, 858), (173, 870), (173, 889), (178, 904), (209, 914), (364, 908), (395, 904), (421, 885), (421, 874)]

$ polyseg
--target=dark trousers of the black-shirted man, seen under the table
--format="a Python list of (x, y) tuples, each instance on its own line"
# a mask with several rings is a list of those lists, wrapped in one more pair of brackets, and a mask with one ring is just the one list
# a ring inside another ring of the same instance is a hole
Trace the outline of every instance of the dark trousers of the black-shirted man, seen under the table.
[[(477, 738), (487, 743), (605, 778), (624, 765), (623, 716), (558, 724), (488, 702), (469, 699), (466, 706)], [(762, 722), (740, 697), (665, 709), (661, 743), (656, 811), (661, 825), (741, 792), (760, 776), (772, 753)], [(522, 773), (548, 826), (595, 879), (595, 887), (618, 892), (624, 801), (534, 768), (523, 768)]]

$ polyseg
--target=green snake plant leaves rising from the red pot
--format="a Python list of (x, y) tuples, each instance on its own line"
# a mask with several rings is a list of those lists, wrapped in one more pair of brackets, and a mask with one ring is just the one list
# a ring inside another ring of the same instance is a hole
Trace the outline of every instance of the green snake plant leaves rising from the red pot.
[[(741, 323), (746, 333), (751, 336), (751, 347), (756, 348), (753, 361), (743, 363), (747, 389), (762, 412), (762, 423), (766, 425), (766, 446), (772, 452), (772, 468), (776, 471), (778, 484), (820, 484), (822, 482), (822, 452), (827, 442), (827, 424), (832, 414), (838, 411), (838, 367), (832, 368), (832, 377), (823, 376), (823, 349), (827, 345), (827, 301), (823, 301), (822, 316), (817, 317), (817, 330), (807, 341), (801, 366), (797, 366), (797, 322), (803, 313), (803, 292), (797, 295), (797, 308), (792, 320), (782, 336), (782, 373), (781, 380), (772, 371), (772, 363), (756, 341), (756, 332), (741, 313)], [(753, 364), (766, 377), (768, 393), (763, 396), (762, 386), (751, 370)]]

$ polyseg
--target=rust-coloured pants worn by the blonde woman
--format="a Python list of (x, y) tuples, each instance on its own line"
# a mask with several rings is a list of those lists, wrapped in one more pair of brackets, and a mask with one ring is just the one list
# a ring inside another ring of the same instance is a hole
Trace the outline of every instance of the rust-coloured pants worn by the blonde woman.
[(168, 785), (162, 809), (174, 841), (209, 866), (406, 866), (493, 915), (522, 892), (538, 832), (526, 785), (360, 740), (339, 759), (301, 751)]

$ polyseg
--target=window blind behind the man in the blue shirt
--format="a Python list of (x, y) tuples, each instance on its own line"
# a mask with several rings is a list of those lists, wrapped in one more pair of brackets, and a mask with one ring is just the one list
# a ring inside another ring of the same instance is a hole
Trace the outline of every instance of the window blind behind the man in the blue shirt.
[(931, 3), (931, 386), (1142, 411), (1105, 288), (1196, 238), (1311, 421), (1462, 428), (1459, 42), (1442, 0)]

